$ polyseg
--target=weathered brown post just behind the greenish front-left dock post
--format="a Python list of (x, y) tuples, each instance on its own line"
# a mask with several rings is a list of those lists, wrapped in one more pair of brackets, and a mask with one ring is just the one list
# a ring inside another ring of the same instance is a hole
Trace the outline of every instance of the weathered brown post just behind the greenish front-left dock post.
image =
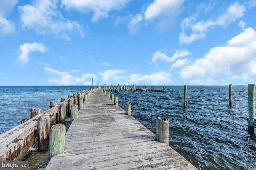
[(42, 115), (38, 118), (38, 150), (47, 149), (49, 146), (50, 116)]

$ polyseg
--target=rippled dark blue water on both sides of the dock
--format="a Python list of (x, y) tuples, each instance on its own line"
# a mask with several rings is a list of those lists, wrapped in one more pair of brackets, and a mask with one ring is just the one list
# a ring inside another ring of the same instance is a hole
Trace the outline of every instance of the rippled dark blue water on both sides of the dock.
[[(92, 87), (0, 86), (1, 133), (19, 125), (21, 119), (29, 118), (32, 107), (45, 111), (51, 101), (60, 103), (61, 97), (67, 98), (88, 88)], [(152, 89), (162, 89), (162, 86), (152, 86)], [(188, 86), (186, 111), (183, 111), (183, 86), (165, 86), (164, 93), (111, 93), (118, 97), (123, 109), (126, 102), (131, 102), (132, 115), (154, 133), (157, 117), (168, 118), (170, 147), (198, 169), (254, 170), (256, 138), (248, 135), (246, 121), (248, 87), (233, 86), (232, 89), (233, 107), (229, 108), (228, 86)], [(41, 161), (33, 159), (30, 161), (34, 164)]]

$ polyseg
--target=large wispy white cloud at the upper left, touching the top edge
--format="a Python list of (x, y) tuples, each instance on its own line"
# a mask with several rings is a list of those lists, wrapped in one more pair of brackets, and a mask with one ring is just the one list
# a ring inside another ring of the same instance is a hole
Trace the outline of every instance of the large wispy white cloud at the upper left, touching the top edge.
[[(54, 33), (62, 31), (72, 31), (79, 29), (76, 22), (65, 20), (58, 11), (57, 2), (50, 0), (36, 0), (32, 5), (19, 6), (22, 27), (35, 30), (40, 34)], [(62, 35), (65, 35), (62, 33)], [(63, 36), (64, 39), (67, 36)]]

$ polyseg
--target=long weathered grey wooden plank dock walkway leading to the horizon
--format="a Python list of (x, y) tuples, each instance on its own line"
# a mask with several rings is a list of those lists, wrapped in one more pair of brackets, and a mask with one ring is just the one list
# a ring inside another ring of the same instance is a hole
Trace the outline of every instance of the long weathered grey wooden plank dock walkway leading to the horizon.
[(65, 151), (46, 170), (194, 170), (190, 162), (103, 93), (95, 90), (70, 125)]

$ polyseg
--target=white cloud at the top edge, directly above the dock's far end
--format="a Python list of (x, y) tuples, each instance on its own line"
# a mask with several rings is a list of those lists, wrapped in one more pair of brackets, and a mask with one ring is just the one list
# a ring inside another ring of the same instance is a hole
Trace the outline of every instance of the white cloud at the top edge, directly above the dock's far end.
[(111, 10), (120, 10), (131, 0), (62, 0), (61, 4), (67, 9), (74, 8), (82, 12), (93, 11), (93, 22), (108, 17)]

